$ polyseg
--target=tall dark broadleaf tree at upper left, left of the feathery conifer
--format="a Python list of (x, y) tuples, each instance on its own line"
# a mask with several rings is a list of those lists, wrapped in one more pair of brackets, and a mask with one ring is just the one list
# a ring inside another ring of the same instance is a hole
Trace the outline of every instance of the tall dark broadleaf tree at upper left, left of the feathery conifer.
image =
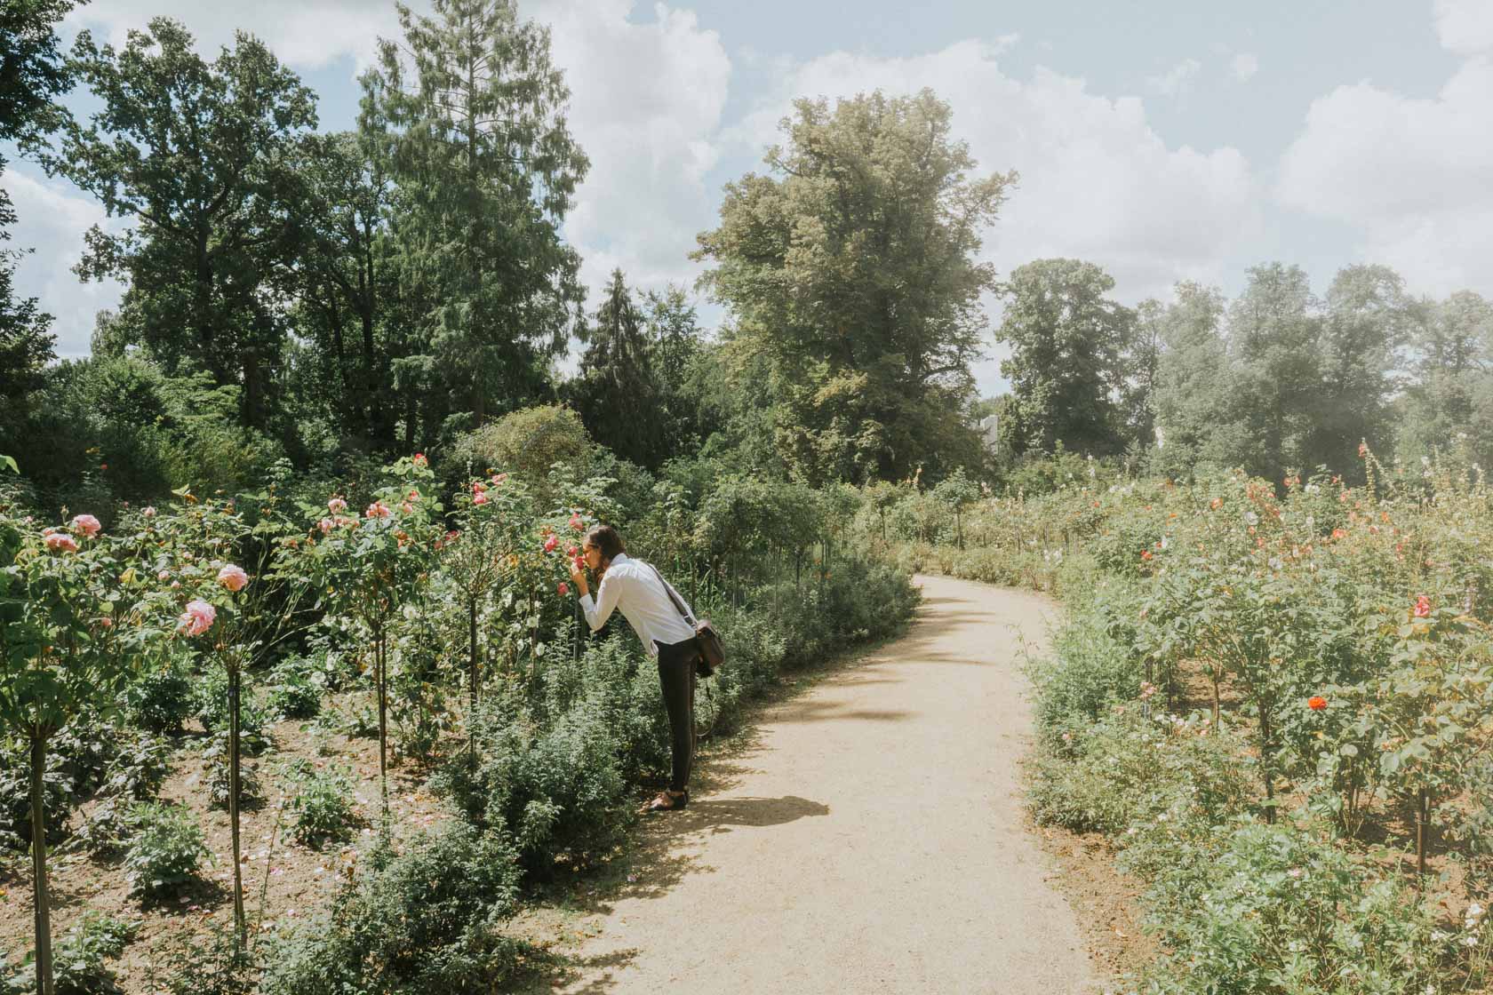
[(315, 95), (260, 40), (239, 33), (208, 63), (167, 18), (119, 51), (81, 31), (70, 66), (103, 107), (87, 127), (69, 118), (42, 164), (139, 222), (94, 225), (79, 274), (128, 277), (125, 307), (166, 368), (240, 385), (243, 424), (267, 425), (285, 342), (272, 291), (293, 254), (287, 201)]

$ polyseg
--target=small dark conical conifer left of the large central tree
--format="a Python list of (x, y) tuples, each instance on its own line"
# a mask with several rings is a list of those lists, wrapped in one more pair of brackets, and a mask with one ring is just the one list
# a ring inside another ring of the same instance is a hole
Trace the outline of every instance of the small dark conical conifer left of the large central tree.
[(657, 465), (667, 455), (658, 380), (621, 270), (612, 271), (587, 337), (576, 397), (587, 431), (624, 459)]

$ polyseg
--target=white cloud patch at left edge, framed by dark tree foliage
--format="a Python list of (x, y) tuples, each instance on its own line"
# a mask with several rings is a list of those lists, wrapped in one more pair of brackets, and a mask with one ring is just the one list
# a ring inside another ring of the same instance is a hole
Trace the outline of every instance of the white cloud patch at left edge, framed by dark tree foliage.
[(109, 222), (93, 198), (66, 192), (60, 182), (34, 179), (13, 163), (0, 176), (0, 186), (10, 194), (16, 212), (7, 245), (34, 249), (16, 266), (16, 295), (36, 297), (42, 310), (52, 315), (57, 355), (88, 355), (94, 315), (116, 307), (124, 286), (116, 280), (84, 283), (72, 267), (82, 258), (84, 231), (96, 224), (106, 230), (119, 225)]

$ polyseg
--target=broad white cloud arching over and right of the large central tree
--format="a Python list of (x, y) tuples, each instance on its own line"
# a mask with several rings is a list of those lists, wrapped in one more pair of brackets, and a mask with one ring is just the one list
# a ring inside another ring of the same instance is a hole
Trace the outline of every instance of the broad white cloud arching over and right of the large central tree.
[(1233, 248), (1259, 227), (1248, 163), (1232, 149), (1168, 148), (1139, 98), (1108, 98), (1082, 79), (1038, 69), (1006, 76), (993, 46), (960, 42), (917, 58), (838, 52), (802, 64), (779, 92), (729, 130), (754, 158), (799, 95), (850, 97), (932, 88), (982, 173), (1015, 169), (1020, 185), (985, 237), (999, 271), (1044, 257), (1103, 266), (1127, 300), (1179, 279), (1223, 280)]

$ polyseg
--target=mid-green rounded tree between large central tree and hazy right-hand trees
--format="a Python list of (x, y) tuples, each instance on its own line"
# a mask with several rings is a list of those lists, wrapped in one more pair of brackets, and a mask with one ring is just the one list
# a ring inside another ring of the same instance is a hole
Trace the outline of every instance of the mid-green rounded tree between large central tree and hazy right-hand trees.
[(1109, 297), (1114, 277), (1081, 260), (1038, 260), (1002, 288), (1005, 316), (996, 333), (1011, 357), (1011, 416), (1000, 430), (1014, 453), (1106, 455), (1126, 446), (1124, 355), (1135, 312)]

